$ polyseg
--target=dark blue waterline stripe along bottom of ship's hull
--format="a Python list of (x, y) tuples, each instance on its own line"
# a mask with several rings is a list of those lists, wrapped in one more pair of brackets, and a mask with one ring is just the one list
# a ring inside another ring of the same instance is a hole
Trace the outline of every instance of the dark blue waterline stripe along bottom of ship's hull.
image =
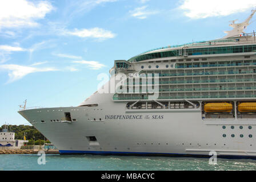
[[(192, 158), (210, 158), (209, 155), (199, 154), (172, 154), (172, 153), (154, 153), (154, 152), (114, 152), (114, 151), (75, 151), (75, 150), (60, 150), (61, 155), (78, 155), (78, 154), (92, 154), (92, 155), (129, 155), (129, 156), (175, 156), (175, 157), (192, 157)], [(225, 159), (256, 159), (256, 156), (243, 155), (218, 155), (218, 158)]]

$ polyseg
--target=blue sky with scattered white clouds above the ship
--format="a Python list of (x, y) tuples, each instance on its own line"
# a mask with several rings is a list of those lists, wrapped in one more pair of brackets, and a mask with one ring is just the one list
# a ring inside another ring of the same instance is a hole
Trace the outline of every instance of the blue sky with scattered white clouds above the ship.
[[(28, 125), (27, 107), (78, 106), (114, 60), (213, 40), (255, 0), (1, 0), (0, 125)], [(246, 32), (256, 31), (256, 15)]]

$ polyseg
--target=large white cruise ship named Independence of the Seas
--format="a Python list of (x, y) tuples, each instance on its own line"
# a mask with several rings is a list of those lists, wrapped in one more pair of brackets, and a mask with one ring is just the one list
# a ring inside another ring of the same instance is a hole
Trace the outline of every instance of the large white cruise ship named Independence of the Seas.
[(60, 154), (256, 157), (256, 40), (244, 22), (224, 38), (115, 60), (77, 107), (18, 113)]

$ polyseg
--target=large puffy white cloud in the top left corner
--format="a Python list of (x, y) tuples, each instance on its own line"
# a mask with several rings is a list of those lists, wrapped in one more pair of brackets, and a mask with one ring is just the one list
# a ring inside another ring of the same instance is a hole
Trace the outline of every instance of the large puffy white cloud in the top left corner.
[(37, 26), (35, 19), (45, 18), (52, 9), (48, 1), (1, 0), (0, 27)]

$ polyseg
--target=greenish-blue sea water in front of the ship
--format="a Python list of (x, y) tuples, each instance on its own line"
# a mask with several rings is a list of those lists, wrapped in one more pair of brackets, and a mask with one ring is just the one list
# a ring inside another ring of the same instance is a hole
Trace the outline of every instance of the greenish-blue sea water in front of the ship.
[(170, 171), (170, 170), (256, 170), (256, 160), (209, 158), (174, 158), (147, 156), (46, 155), (38, 164), (38, 155), (0, 155), (0, 170), (103, 170), (103, 171)]

